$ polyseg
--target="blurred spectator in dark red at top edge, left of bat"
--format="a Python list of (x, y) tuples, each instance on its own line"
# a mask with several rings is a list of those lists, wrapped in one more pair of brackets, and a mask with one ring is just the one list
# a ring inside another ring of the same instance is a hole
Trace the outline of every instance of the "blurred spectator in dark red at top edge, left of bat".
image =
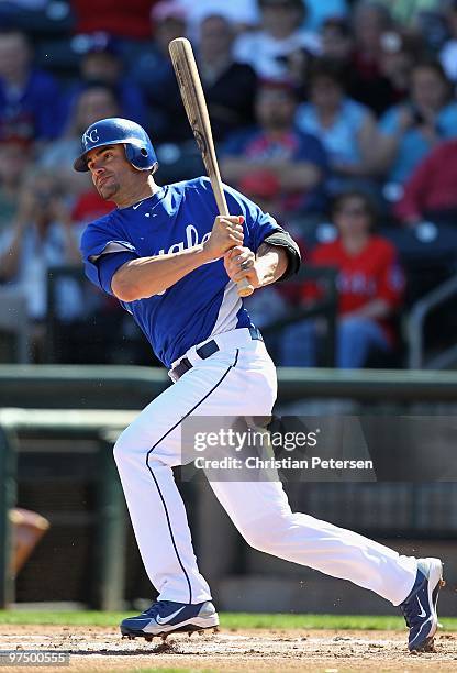
[(149, 36), (151, 7), (157, 0), (73, 0), (76, 33), (107, 31), (130, 40)]

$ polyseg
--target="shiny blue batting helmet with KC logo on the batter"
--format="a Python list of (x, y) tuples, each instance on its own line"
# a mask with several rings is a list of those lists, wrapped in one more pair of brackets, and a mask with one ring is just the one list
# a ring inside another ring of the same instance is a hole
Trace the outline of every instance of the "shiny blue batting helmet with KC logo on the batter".
[(137, 123), (120, 117), (101, 119), (90, 124), (82, 134), (82, 153), (74, 163), (75, 170), (89, 170), (86, 156), (90, 150), (103, 145), (124, 145), (125, 157), (138, 170), (155, 170), (157, 157), (146, 131)]

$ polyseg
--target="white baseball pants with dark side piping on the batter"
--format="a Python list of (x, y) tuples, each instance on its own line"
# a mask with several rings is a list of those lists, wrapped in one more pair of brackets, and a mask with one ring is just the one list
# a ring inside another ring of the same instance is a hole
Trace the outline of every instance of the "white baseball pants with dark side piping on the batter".
[[(114, 459), (140, 552), (159, 600), (211, 598), (192, 549), (186, 509), (171, 466), (180, 464), (182, 419), (203, 416), (269, 416), (276, 372), (265, 344), (247, 329), (214, 338), (220, 351), (201, 360), (152, 401), (119, 438)], [(213, 482), (227, 515), (255, 549), (350, 580), (393, 605), (409, 595), (416, 560), (355, 532), (292, 512), (280, 482)]]

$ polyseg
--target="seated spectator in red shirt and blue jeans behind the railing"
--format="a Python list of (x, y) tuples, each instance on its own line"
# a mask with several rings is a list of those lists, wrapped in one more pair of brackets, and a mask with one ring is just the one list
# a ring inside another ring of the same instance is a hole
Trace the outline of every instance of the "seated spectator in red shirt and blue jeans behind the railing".
[[(395, 346), (393, 318), (402, 301), (404, 280), (392, 244), (372, 233), (376, 213), (370, 200), (357, 191), (336, 197), (333, 222), (338, 238), (317, 245), (310, 262), (338, 271), (339, 296), (336, 365), (363, 367), (374, 350), (384, 353)], [(303, 287), (303, 300), (320, 297), (319, 284)], [(286, 328), (279, 362), (285, 366), (316, 366), (319, 320), (304, 320)]]

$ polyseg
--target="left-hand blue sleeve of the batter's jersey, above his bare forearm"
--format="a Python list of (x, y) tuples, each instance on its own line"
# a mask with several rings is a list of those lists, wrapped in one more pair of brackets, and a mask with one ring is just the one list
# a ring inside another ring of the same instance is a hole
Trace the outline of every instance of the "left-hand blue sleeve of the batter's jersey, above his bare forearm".
[(90, 225), (82, 234), (80, 250), (86, 276), (93, 285), (112, 295), (111, 279), (125, 262), (140, 257), (129, 241), (114, 240), (112, 232)]

